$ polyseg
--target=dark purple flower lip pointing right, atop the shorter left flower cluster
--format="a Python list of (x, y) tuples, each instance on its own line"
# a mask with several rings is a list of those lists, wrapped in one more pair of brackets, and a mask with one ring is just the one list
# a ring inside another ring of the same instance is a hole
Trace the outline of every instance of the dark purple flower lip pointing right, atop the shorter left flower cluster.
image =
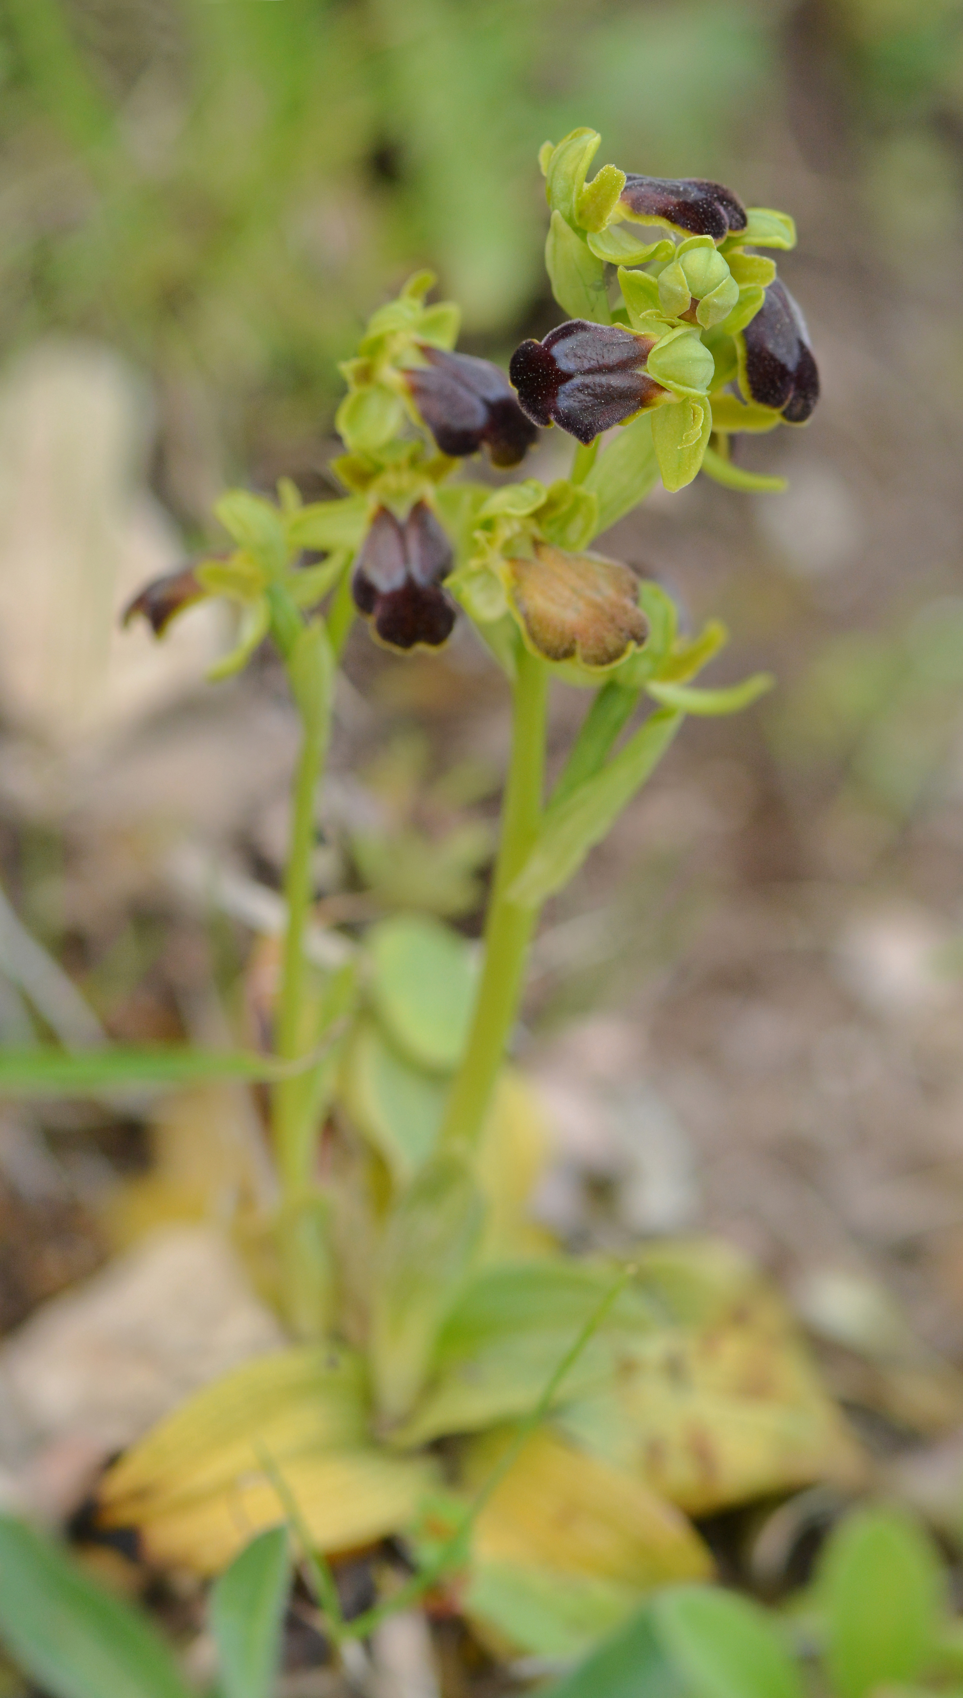
[(470, 353), (421, 346), (428, 365), (404, 380), (442, 453), (462, 458), (487, 448), (493, 465), (518, 465), (538, 436), (518, 406), (504, 372)]

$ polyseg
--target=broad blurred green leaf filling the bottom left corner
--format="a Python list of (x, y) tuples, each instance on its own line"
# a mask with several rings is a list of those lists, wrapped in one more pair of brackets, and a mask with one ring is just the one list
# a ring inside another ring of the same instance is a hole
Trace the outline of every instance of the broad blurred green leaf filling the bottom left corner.
[(51, 1698), (190, 1698), (170, 1650), (138, 1610), (5, 1515), (0, 1637)]

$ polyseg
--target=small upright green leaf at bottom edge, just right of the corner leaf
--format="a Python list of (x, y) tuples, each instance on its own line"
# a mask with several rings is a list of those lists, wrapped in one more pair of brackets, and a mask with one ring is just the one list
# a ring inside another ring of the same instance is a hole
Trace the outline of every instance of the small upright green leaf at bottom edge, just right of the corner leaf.
[(289, 1588), (285, 1527), (272, 1527), (253, 1538), (217, 1579), (211, 1593), (211, 1628), (221, 1698), (272, 1698)]

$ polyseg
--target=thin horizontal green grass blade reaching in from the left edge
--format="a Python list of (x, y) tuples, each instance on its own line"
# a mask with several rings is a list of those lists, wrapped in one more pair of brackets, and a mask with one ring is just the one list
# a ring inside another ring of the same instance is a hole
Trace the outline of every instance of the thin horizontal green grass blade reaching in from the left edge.
[[(307, 1061), (304, 1063), (307, 1065)], [(217, 1078), (277, 1080), (294, 1075), (290, 1063), (243, 1049), (32, 1049), (0, 1048), (0, 1097), (88, 1097), (127, 1085), (177, 1090)]]

